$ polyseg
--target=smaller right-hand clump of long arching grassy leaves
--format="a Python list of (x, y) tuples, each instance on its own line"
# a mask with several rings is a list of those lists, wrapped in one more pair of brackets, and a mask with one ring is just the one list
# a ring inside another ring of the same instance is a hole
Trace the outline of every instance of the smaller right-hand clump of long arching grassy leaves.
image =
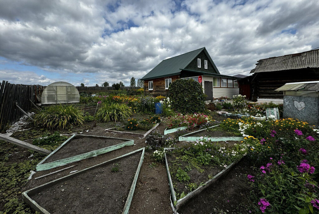
[(103, 103), (96, 113), (96, 118), (102, 122), (118, 121), (132, 115), (132, 110), (125, 104)]

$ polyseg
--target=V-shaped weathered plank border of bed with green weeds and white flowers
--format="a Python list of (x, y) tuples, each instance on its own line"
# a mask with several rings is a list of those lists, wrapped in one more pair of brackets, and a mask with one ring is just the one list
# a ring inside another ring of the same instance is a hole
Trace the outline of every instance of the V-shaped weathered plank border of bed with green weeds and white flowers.
[[(164, 151), (171, 151), (174, 148), (164, 148)], [(168, 162), (167, 162), (167, 157), (166, 157), (166, 153), (165, 153), (165, 165), (166, 165), (166, 171), (167, 171), (167, 177), (168, 177), (168, 184), (169, 184), (169, 188), (171, 190), (171, 194), (172, 194), (172, 198), (173, 198), (173, 204), (174, 206), (174, 210), (173, 212), (176, 213), (181, 207), (182, 205), (184, 205), (185, 203), (187, 203), (191, 198), (193, 198), (194, 196), (197, 196), (198, 194), (200, 194), (204, 189), (206, 189), (207, 187), (209, 187), (211, 184), (217, 182), (220, 178), (226, 176), (228, 174), (228, 172), (234, 168), (238, 162), (242, 159), (239, 158), (237, 160), (235, 160), (233, 163), (229, 164), (225, 169), (223, 169), (222, 171), (220, 171), (217, 175), (215, 175), (213, 178), (209, 179), (208, 181), (206, 181), (204, 183), (204, 185), (199, 186), (197, 189), (189, 192), (186, 196), (182, 197), (181, 199), (177, 200), (176, 196), (175, 196), (175, 190), (174, 190), (174, 186), (173, 186), (173, 182), (171, 179), (171, 174), (169, 172), (169, 167), (168, 167)]]

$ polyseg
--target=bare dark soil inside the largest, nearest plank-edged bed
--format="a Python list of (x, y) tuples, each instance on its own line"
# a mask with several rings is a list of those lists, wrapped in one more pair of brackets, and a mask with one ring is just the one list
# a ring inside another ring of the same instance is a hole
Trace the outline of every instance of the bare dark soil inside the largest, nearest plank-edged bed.
[[(141, 153), (90, 169), (30, 197), (54, 213), (121, 213)], [(117, 167), (119, 171), (112, 172)]]

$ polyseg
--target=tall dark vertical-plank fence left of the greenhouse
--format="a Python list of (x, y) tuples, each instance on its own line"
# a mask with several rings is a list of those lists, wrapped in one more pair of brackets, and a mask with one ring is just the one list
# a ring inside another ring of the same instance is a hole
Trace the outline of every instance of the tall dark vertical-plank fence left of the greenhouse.
[(0, 132), (7, 124), (12, 125), (24, 114), (18, 109), (16, 103), (24, 111), (32, 108), (32, 103), (39, 102), (44, 87), (41, 85), (11, 84), (2, 81), (0, 87)]

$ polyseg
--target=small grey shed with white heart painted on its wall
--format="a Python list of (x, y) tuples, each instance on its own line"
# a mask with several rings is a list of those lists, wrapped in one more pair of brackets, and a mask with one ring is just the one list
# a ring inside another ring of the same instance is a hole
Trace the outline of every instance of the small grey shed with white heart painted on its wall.
[(286, 83), (275, 91), (283, 94), (284, 118), (319, 126), (319, 81)]

